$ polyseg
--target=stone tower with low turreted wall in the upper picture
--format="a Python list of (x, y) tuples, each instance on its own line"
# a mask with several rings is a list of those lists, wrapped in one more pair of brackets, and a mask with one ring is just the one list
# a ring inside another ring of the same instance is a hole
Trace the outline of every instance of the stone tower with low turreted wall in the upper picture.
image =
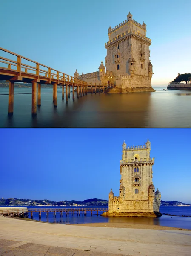
[(113, 29), (109, 27), (108, 37), (105, 66), (101, 61), (99, 71), (79, 75), (76, 70), (74, 77), (97, 86), (114, 84), (110, 93), (155, 91), (151, 87), (151, 39), (146, 37), (146, 24), (133, 20), (129, 12), (127, 20)]

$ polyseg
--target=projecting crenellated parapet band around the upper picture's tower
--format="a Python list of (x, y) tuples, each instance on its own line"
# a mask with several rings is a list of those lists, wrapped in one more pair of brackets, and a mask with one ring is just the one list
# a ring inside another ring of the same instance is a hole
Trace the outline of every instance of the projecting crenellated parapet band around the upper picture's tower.
[(142, 39), (144, 39), (145, 41), (147, 41), (148, 43), (151, 44), (151, 39), (150, 38), (146, 37), (145, 35), (142, 35), (140, 32), (137, 32), (135, 30), (129, 29), (129, 30), (125, 31), (124, 33), (118, 35), (117, 37), (112, 38), (107, 43), (105, 43), (105, 48), (107, 48), (108, 45), (111, 45), (111, 44), (113, 44), (115, 42), (117, 43), (119, 41), (119, 39), (125, 39), (125, 38), (130, 37), (130, 35), (135, 35), (138, 38), (142, 38)]

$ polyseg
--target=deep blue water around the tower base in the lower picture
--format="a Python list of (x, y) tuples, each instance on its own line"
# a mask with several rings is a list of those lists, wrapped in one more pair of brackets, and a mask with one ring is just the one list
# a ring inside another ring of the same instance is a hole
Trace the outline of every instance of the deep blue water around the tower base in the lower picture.
[[(16, 206), (15, 206), (16, 207)], [(46, 207), (46, 206), (27, 206), (28, 208), (64, 208), (64, 207)], [(83, 207), (66, 207), (66, 208), (83, 208)], [(88, 208), (88, 207), (84, 207)], [(91, 207), (93, 208), (93, 207)], [(94, 208), (98, 208), (97, 206)], [(102, 208), (102, 207), (99, 207)], [(105, 208), (105, 207), (104, 207)], [(191, 207), (160, 207), (161, 213), (169, 213), (172, 215), (187, 215), (191, 216)], [(102, 214), (102, 212), (99, 212)], [(30, 218), (29, 214), (29, 218)], [(39, 221), (39, 214), (38, 212), (33, 213), (33, 219)], [(66, 217), (66, 212), (63, 213), (63, 217), (60, 217), (60, 212), (57, 212), (56, 218), (53, 218), (53, 212), (49, 213), (49, 218), (46, 218), (46, 213), (41, 213), (41, 221), (43, 222), (51, 222), (51, 223), (60, 223), (60, 224), (77, 224), (77, 223), (95, 223), (95, 222), (122, 222), (122, 223), (137, 223), (137, 224), (152, 224), (152, 225), (159, 225), (159, 226), (167, 226), (167, 227), (179, 227), (179, 228), (186, 228), (191, 229), (191, 217), (175, 217), (175, 216), (166, 216), (163, 215), (160, 218), (146, 218), (146, 217), (103, 217), (98, 215), (97, 212), (93, 212), (91, 216), (90, 212), (87, 212), (87, 216), (77, 216), (75, 213), (74, 216), (69, 213), (69, 217)]]

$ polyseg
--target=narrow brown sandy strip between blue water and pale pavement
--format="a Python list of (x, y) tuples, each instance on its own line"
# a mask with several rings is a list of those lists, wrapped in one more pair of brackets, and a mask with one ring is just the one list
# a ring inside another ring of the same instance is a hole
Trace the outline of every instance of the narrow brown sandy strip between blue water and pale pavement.
[(83, 223), (83, 224), (71, 224), (77, 226), (86, 227), (118, 227), (118, 228), (136, 228), (136, 229), (152, 229), (152, 230), (187, 230), (190, 229), (178, 228), (178, 227), (164, 227), (159, 225), (137, 224), (137, 223), (123, 223), (123, 222), (99, 222), (99, 223)]

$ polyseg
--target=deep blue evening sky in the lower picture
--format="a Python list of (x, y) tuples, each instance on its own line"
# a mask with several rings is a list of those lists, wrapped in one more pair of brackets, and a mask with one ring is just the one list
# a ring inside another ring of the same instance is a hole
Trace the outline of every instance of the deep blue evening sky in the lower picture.
[(0, 198), (108, 199), (120, 186), (122, 144), (151, 141), (164, 201), (191, 204), (190, 129), (1, 129)]

